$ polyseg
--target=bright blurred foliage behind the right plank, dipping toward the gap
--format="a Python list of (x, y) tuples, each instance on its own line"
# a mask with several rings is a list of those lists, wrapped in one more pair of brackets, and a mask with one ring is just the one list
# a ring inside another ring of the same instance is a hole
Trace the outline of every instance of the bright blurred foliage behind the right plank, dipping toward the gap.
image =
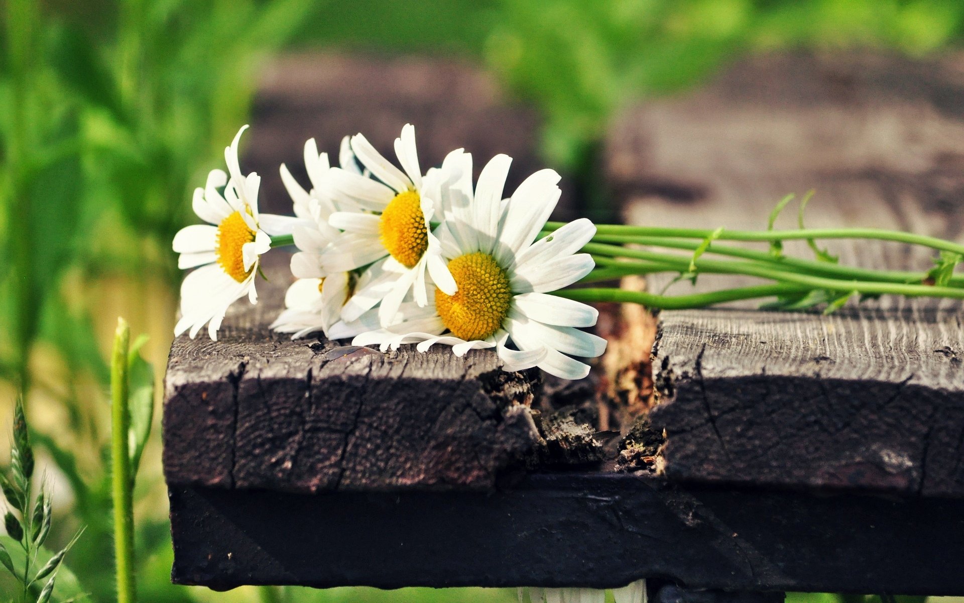
[(959, 0), (501, 0), (485, 57), (546, 118), (543, 150), (576, 174), (617, 112), (679, 90), (736, 56), (885, 47), (922, 54), (960, 39)]

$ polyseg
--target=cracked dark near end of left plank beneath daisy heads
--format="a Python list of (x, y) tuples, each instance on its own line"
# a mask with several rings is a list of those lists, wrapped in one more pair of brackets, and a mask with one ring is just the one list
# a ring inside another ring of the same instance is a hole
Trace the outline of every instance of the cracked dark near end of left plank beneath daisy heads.
[(539, 436), (534, 371), (495, 354), (369, 348), (271, 333), (287, 278), (269, 266), (257, 306), (217, 342), (174, 341), (165, 377), (170, 485), (295, 492), (489, 489)]

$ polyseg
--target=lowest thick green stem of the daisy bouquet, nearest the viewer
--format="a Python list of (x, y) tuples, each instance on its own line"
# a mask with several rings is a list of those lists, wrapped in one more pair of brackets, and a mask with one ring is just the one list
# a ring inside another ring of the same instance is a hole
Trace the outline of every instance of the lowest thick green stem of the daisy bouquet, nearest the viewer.
[(621, 288), (571, 288), (553, 291), (553, 295), (583, 302), (617, 302), (641, 304), (648, 308), (661, 310), (685, 310), (705, 308), (713, 304), (741, 299), (759, 299), (789, 293), (806, 291), (807, 287), (789, 284), (758, 285), (755, 287), (731, 288), (708, 293), (689, 295), (658, 295), (646, 291), (629, 291)]

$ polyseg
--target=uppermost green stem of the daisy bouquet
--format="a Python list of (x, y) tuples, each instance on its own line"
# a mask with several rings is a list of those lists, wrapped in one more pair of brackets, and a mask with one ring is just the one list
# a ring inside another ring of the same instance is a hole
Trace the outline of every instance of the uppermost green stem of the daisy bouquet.
[[(547, 222), (543, 230), (554, 231), (564, 225), (562, 222)], [(650, 226), (622, 226), (600, 224), (596, 227), (597, 234), (629, 234), (638, 236), (670, 236), (676, 238), (705, 239), (713, 234), (706, 229), (674, 229)], [(925, 234), (901, 233), (899, 231), (885, 231), (882, 229), (799, 229), (790, 231), (723, 231), (716, 236), (719, 240), (730, 241), (788, 241), (827, 239), (827, 238), (869, 238), (882, 241), (896, 241), (910, 245), (923, 245), (938, 251), (950, 251), (964, 256), (964, 245), (951, 241), (927, 236)]]

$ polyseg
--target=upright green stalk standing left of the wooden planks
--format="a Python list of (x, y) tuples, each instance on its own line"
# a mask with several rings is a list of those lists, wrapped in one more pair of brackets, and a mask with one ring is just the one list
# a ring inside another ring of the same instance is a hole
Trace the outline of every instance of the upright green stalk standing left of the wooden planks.
[(127, 407), (127, 348), (130, 327), (118, 318), (111, 358), (111, 490), (114, 497), (114, 552), (117, 570), (118, 603), (135, 603), (134, 583), (134, 506), (127, 433), (130, 412)]

